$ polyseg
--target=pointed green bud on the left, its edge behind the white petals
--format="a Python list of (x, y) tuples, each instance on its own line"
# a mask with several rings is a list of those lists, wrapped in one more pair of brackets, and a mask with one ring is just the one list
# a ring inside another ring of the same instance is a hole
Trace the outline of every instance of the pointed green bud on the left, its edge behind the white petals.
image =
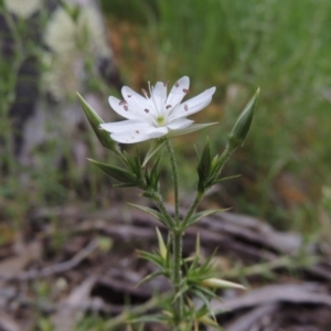
[(115, 142), (111, 138), (110, 135), (108, 132), (106, 132), (105, 130), (103, 130), (100, 128), (100, 124), (104, 122), (104, 120), (97, 115), (97, 113), (84, 100), (84, 98), (79, 95), (79, 93), (77, 93), (77, 96), (79, 98), (81, 105), (83, 107), (83, 110), (95, 132), (95, 135), (97, 136), (98, 140), (102, 142), (102, 145), (106, 148), (108, 148), (109, 150), (111, 150), (113, 152), (115, 152), (116, 154), (122, 157), (121, 151), (117, 145), (117, 142)]

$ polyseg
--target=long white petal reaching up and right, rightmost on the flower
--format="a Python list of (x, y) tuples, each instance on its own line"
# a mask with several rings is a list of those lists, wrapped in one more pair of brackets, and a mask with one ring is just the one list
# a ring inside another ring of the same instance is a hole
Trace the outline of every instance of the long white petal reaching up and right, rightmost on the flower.
[(169, 120), (186, 117), (189, 115), (200, 111), (211, 103), (212, 96), (215, 93), (215, 87), (211, 87), (205, 92), (199, 94), (194, 98), (184, 102), (177, 109), (173, 110), (173, 113), (169, 116)]

